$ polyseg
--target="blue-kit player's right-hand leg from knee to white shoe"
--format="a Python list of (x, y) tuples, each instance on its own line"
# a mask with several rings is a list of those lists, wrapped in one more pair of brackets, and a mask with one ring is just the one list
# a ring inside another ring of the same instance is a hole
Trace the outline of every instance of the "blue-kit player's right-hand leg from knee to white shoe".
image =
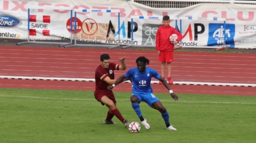
[(163, 117), (163, 120), (165, 121), (167, 130), (177, 130), (174, 127), (172, 127), (172, 125), (170, 125), (169, 113), (167, 112), (166, 108), (162, 105), (161, 101), (156, 101), (155, 103), (153, 103), (152, 108), (158, 110), (162, 114), (162, 117)]

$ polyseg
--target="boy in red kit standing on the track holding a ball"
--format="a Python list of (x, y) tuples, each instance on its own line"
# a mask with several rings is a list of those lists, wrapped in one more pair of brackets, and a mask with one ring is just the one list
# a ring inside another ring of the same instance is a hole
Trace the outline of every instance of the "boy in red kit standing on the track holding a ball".
[[(169, 16), (163, 16), (163, 25), (160, 26), (157, 30), (156, 35), (156, 49), (157, 54), (159, 55), (159, 62), (161, 62), (161, 76), (164, 79), (165, 75), (165, 63), (167, 64), (167, 71), (168, 71), (168, 83), (172, 84), (172, 78), (170, 77), (170, 71), (172, 67), (172, 62), (174, 61), (174, 45), (176, 45), (182, 38), (181, 33), (177, 31), (175, 28), (170, 26), (170, 17)], [(177, 39), (173, 42), (170, 42), (170, 35), (176, 34)], [(162, 84), (161, 81), (159, 81), (159, 84)]]

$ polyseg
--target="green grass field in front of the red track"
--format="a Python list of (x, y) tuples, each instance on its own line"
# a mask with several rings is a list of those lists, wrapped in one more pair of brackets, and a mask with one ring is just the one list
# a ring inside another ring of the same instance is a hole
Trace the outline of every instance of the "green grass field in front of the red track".
[[(139, 118), (131, 93), (115, 92), (129, 122)], [(132, 134), (122, 123), (105, 125), (107, 108), (93, 91), (0, 88), (0, 142), (255, 142), (256, 97), (155, 93), (177, 131), (166, 130), (161, 114), (141, 103), (150, 130)], [(140, 123), (140, 122), (139, 122)]]

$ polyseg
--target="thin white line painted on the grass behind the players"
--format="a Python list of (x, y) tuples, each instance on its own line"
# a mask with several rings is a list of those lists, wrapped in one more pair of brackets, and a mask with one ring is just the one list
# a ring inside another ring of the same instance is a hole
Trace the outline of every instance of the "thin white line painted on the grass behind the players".
[[(12, 96), (12, 95), (0, 95), (0, 97), (16, 97), (16, 98), (38, 98), (38, 99), (52, 99), (52, 100), (88, 100), (95, 101), (94, 99), (87, 98), (51, 98), (51, 97), (32, 97), (32, 96)], [(117, 100), (117, 101), (130, 101), (130, 100)], [(242, 105), (256, 105), (256, 103), (243, 103), (243, 102), (206, 102), (206, 101), (168, 101), (160, 100), (162, 102), (181, 102), (181, 103), (214, 103), (214, 104), (242, 104)]]

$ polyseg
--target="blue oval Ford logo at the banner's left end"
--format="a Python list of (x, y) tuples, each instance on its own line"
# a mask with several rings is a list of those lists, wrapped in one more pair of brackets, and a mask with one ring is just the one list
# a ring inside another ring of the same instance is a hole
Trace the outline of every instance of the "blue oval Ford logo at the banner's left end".
[(10, 16), (0, 14), (0, 28), (14, 28), (22, 25), (22, 20)]

